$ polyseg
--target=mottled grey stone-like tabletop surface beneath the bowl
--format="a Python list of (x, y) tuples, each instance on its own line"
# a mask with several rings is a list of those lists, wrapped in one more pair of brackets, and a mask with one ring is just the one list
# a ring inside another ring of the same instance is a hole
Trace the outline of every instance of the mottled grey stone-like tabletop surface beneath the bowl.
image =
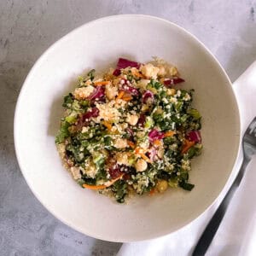
[[(255, 0), (0, 1), (0, 255), (114, 255), (54, 218), (26, 185), (15, 159), (13, 118), (34, 61), (73, 28), (107, 15), (156, 15), (207, 45), (234, 81), (256, 60)], [(207, 79), (207, 78), (206, 78)]]

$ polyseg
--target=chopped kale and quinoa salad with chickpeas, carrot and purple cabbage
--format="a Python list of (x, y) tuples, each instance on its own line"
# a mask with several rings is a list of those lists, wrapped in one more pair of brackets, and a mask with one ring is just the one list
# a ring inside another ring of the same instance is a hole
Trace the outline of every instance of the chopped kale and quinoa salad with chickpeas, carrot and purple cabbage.
[(93, 69), (80, 77), (64, 96), (55, 137), (73, 179), (119, 203), (135, 194), (193, 189), (189, 172), (201, 154), (201, 114), (183, 82), (176, 67), (157, 58), (119, 58), (100, 76)]

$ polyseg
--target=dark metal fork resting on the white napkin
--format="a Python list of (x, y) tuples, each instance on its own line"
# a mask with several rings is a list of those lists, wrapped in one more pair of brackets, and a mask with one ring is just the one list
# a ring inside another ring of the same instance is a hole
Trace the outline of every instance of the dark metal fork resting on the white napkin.
[(218, 226), (224, 218), (224, 214), (228, 208), (232, 196), (241, 183), (241, 178), (244, 176), (247, 165), (252, 159), (253, 154), (256, 154), (256, 117), (254, 117), (251, 124), (247, 127), (247, 131), (242, 138), (242, 152), (243, 160), (236, 179), (232, 183), (217, 211), (212, 216), (210, 222), (207, 224), (206, 229), (195, 246), (192, 256), (202, 256), (207, 253), (207, 248), (210, 246), (212, 239), (218, 230)]

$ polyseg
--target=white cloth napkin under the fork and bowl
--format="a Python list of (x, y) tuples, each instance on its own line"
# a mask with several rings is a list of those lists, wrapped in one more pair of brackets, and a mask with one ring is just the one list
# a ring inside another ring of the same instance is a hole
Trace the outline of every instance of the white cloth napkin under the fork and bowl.
[[(241, 131), (256, 116), (256, 61), (233, 84), (241, 113)], [(167, 236), (148, 241), (124, 243), (118, 256), (183, 256), (193, 252), (196, 242), (208, 221), (218, 208), (225, 193), (234, 181), (241, 166), (240, 152), (233, 174), (218, 200), (201, 217), (191, 224)], [(256, 255), (256, 157), (247, 166), (245, 177), (237, 189), (230, 206), (220, 224), (217, 234), (210, 245), (207, 256), (254, 256)]]

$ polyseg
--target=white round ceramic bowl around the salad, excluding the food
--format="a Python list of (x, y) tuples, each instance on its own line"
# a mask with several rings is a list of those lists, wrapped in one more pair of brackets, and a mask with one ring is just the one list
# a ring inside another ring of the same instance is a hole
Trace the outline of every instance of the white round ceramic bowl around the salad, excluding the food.
[[(203, 116), (204, 150), (192, 163), (191, 192), (135, 197), (117, 204), (81, 189), (61, 165), (55, 134), (62, 97), (90, 68), (114, 66), (119, 56), (150, 61), (159, 56), (178, 67), (195, 89)], [(169, 234), (197, 218), (230, 177), (240, 143), (240, 119), (230, 79), (214, 56), (189, 32), (145, 15), (92, 21), (53, 44), (32, 67), (15, 112), (15, 148), (32, 192), (49, 212), (85, 235), (108, 241), (141, 241)]]

